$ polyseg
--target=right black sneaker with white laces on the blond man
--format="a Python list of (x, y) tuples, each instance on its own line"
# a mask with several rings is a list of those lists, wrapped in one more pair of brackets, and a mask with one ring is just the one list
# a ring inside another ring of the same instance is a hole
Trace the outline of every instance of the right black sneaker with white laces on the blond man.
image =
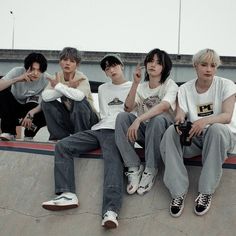
[(194, 207), (194, 212), (202, 216), (208, 212), (211, 206), (212, 194), (199, 193), (197, 199), (195, 200), (196, 206)]

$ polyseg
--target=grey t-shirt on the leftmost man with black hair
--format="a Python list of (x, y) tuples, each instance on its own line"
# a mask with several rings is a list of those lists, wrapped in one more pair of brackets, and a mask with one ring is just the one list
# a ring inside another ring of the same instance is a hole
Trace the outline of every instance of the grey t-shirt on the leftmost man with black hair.
[[(4, 80), (12, 80), (26, 72), (24, 67), (15, 67), (11, 71), (9, 71), (2, 79)], [(36, 103), (40, 103), (42, 100), (41, 94), (44, 88), (48, 84), (47, 77), (49, 74), (42, 73), (38, 80), (30, 81), (30, 82), (16, 82), (11, 86), (11, 92), (15, 99), (24, 104), (31, 99)]]

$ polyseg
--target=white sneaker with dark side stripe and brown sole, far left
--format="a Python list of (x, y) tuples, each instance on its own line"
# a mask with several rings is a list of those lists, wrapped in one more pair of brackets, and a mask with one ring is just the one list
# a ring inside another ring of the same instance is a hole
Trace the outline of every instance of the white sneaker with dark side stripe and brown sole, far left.
[(79, 201), (74, 193), (65, 192), (56, 198), (43, 202), (42, 207), (50, 211), (60, 211), (76, 208), (79, 206)]

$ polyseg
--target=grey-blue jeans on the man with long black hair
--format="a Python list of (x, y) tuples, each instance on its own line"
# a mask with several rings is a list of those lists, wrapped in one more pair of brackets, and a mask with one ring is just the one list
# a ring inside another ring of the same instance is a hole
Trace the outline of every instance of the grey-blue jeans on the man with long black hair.
[[(135, 152), (134, 144), (127, 139), (127, 130), (137, 117), (128, 112), (119, 113), (116, 118), (115, 138), (116, 145), (121, 153), (126, 167), (138, 167), (140, 158)], [(157, 168), (161, 160), (160, 142), (172, 120), (165, 115), (158, 115), (149, 122), (141, 122), (138, 129), (137, 143), (145, 145), (146, 167)]]

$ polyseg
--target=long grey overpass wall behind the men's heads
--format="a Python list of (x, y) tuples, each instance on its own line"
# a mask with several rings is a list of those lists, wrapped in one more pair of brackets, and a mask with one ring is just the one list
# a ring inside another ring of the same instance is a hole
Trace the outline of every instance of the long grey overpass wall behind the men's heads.
[[(48, 73), (54, 74), (60, 70), (58, 65), (59, 51), (35, 50), (41, 52), (48, 59)], [(15, 66), (22, 66), (23, 59), (32, 50), (6, 50), (0, 49), (0, 76), (5, 75)], [(110, 52), (81, 52), (82, 62), (80, 70), (86, 74), (91, 81), (105, 82), (108, 78), (100, 68), (101, 58)], [(143, 53), (120, 53), (125, 62), (125, 76), (132, 80), (132, 74), (138, 62), (143, 61)], [(172, 78), (176, 82), (185, 82), (194, 78), (195, 71), (192, 67), (192, 55), (170, 55), (173, 61)], [(228, 78), (236, 82), (236, 57), (222, 57), (223, 64), (219, 67), (217, 75)]]

